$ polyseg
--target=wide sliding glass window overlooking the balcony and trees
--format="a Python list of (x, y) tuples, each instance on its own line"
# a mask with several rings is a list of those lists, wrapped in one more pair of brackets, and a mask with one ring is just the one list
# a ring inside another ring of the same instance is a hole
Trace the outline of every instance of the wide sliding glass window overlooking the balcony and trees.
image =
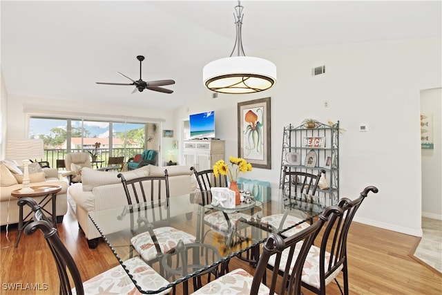
[(42, 160), (50, 162), (51, 167), (66, 153), (77, 151), (97, 153), (107, 163), (109, 156), (128, 160), (144, 149), (158, 150), (161, 138), (157, 124), (35, 116), (29, 121), (29, 135), (44, 140)]

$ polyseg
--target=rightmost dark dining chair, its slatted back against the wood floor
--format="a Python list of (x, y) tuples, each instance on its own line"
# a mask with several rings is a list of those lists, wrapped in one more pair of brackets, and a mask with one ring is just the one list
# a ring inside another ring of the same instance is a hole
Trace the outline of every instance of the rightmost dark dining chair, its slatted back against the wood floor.
[[(338, 284), (341, 294), (349, 294), (348, 275), (347, 275), (347, 236), (350, 225), (356, 211), (361, 207), (361, 203), (372, 191), (377, 193), (376, 187), (366, 187), (356, 200), (341, 198), (338, 207), (343, 210), (343, 215), (329, 220), (320, 245), (312, 245), (307, 254), (306, 263), (302, 274), (302, 286), (315, 292), (316, 294), (325, 294), (325, 287), (335, 280)], [(290, 258), (291, 259), (291, 258)], [(286, 256), (282, 257), (279, 266), (272, 260), (269, 260), (269, 269), (280, 269), (281, 276), (287, 276), (286, 264), (290, 263)], [(343, 272), (344, 291), (341, 289), (336, 277)], [(290, 275), (295, 274), (289, 272)]]

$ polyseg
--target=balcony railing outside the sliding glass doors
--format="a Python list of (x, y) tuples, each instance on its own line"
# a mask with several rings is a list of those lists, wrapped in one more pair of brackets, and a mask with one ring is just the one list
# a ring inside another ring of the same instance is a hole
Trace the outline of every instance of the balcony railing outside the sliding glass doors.
[[(112, 155), (110, 155), (108, 149), (97, 149), (98, 160), (103, 160), (104, 165), (107, 164), (109, 157), (124, 157), (124, 161), (126, 162), (129, 158), (133, 158), (137, 153), (142, 153), (144, 151), (143, 148), (121, 148), (121, 149), (112, 149)], [(95, 153), (95, 149), (71, 149), (70, 153)], [(57, 160), (64, 160), (66, 153), (68, 151), (66, 149), (45, 149), (44, 150), (44, 158), (41, 158), (41, 161), (48, 161), (49, 166), (51, 168), (57, 167)]]

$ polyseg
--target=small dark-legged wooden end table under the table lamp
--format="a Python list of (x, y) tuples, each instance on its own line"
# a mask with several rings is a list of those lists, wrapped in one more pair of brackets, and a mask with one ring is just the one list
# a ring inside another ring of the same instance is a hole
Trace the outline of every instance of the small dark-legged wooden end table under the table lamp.
[[(61, 186), (59, 186), (59, 185), (42, 185), (39, 187), (31, 187), (31, 189), (33, 189), (34, 191), (32, 191), (30, 193), (21, 193), (20, 189), (16, 189), (15, 191), (11, 192), (11, 196), (13, 196), (15, 198), (23, 198), (23, 197), (35, 198), (35, 197), (44, 196), (44, 198), (39, 202), (39, 205), (41, 205), (41, 209), (43, 211), (45, 211), (50, 216), (52, 216), (52, 222), (54, 222), (54, 226), (57, 227), (57, 212), (56, 212), (55, 201), (56, 201), (57, 193), (59, 191), (61, 191)], [(52, 202), (52, 213), (50, 213), (48, 210), (44, 209), (44, 207), (46, 206), (46, 204), (48, 204), (49, 201)], [(23, 225), (23, 220), (28, 218), (32, 214), (32, 211), (30, 211), (30, 213), (28, 213), (28, 215), (26, 215), (26, 217), (23, 218), (23, 206), (19, 206), (19, 207), (20, 207), (19, 208), (19, 233), (17, 236), (17, 241), (15, 242), (15, 247), (17, 247), (19, 245), (19, 241), (20, 241), (21, 233), (23, 232), (23, 229), (26, 227), (26, 225), (29, 224), (29, 222), (32, 221), (32, 218), (31, 218)]]

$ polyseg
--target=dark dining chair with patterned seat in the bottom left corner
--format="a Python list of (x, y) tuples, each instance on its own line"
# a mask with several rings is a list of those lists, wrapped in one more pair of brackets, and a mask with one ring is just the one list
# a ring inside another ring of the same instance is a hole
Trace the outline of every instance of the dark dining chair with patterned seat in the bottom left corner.
[[(40, 230), (43, 233), (57, 267), (60, 279), (59, 294), (140, 294), (126, 272), (131, 272), (134, 276), (133, 279), (144, 289), (161, 289), (164, 287), (164, 290), (158, 294), (169, 294), (171, 291), (171, 288), (165, 288), (169, 282), (138, 257), (126, 260), (124, 262), (126, 269), (121, 265), (117, 265), (82, 283), (75, 260), (61, 242), (57, 229), (52, 226), (50, 220), (44, 215), (39, 204), (28, 197), (20, 198), (17, 204), (19, 206), (27, 204), (33, 211), (33, 222), (25, 227), (24, 232), (30, 235)], [(146, 280), (146, 276), (148, 276), (148, 280)]]

